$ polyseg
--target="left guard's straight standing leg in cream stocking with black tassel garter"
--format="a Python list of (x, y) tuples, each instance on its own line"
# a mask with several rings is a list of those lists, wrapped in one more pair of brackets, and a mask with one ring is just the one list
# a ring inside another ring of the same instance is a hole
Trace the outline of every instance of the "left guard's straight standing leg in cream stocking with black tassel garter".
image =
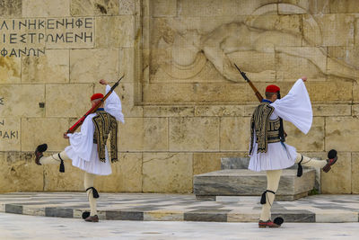
[(93, 181), (95, 179), (95, 174), (92, 173), (84, 173), (83, 178), (83, 185), (84, 189), (86, 190), (87, 197), (90, 202), (90, 217), (85, 218), (85, 221), (88, 222), (98, 222), (99, 218), (97, 216), (97, 207), (96, 207), (96, 200), (99, 198), (99, 193), (97, 190), (93, 187)]

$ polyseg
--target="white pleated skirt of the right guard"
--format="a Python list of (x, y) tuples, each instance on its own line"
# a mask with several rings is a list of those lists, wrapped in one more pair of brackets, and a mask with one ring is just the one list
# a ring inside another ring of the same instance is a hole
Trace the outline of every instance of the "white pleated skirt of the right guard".
[[(284, 147), (285, 146), (285, 147)], [(250, 164), (248, 169), (255, 172), (285, 169), (293, 166), (297, 151), (295, 147), (284, 143), (270, 143), (267, 147), (267, 153), (257, 153), (258, 144), (253, 147), (250, 156)]]

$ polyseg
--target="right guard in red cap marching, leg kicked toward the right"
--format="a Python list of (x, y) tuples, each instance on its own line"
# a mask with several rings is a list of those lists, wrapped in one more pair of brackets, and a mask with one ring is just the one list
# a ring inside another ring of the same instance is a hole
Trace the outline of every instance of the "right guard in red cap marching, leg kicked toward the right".
[(280, 97), (278, 86), (268, 85), (266, 99), (263, 99), (245, 73), (241, 72), (239, 67), (237, 69), (250, 84), (260, 102), (250, 120), (250, 164), (248, 167), (252, 171), (266, 171), (267, 173), (267, 190), (263, 192), (260, 200), (263, 207), (258, 227), (280, 227), (284, 219), (279, 217), (272, 221), (270, 209), (275, 200), (282, 170), (298, 164), (298, 177), (302, 176), (302, 165), (320, 167), (328, 173), (331, 165), (337, 162), (337, 151), (330, 150), (327, 160), (316, 160), (297, 153), (295, 147), (285, 144), (283, 120), (292, 122), (304, 134), (311, 129), (313, 119), (311, 100), (304, 84), (307, 77), (303, 76), (298, 79), (284, 98)]

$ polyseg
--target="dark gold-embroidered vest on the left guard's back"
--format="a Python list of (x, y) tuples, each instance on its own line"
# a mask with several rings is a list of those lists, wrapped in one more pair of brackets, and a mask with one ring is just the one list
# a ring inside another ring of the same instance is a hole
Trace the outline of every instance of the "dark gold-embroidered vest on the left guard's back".
[(96, 111), (97, 116), (92, 118), (95, 125), (93, 142), (97, 143), (97, 152), (101, 162), (106, 162), (105, 147), (110, 133), (111, 162), (118, 161), (118, 122), (106, 111)]

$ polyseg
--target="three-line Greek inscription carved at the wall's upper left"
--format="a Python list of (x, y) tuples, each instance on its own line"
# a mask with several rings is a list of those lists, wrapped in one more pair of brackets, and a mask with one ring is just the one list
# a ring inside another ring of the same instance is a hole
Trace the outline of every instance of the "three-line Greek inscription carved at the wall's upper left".
[(46, 43), (92, 43), (93, 21), (91, 17), (0, 20), (0, 45), (4, 45), (0, 57), (37, 57), (45, 54), (38, 45)]

